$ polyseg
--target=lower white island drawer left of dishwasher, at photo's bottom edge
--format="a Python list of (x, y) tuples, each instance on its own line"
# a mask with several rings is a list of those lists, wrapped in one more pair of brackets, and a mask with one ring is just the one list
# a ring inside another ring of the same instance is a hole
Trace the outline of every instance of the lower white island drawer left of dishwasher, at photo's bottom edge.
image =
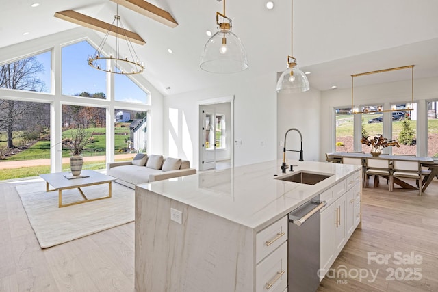
[(263, 259), (257, 265), (255, 273), (256, 292), (283, 292), (287, 287), (287, 242), (283, 242), (278, 249)]

